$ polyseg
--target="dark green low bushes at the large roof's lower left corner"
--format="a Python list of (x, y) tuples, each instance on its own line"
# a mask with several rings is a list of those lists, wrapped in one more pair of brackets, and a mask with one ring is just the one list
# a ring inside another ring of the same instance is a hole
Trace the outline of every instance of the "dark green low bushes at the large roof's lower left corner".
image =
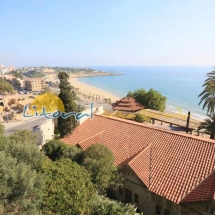
[(70, 158), (72, 161), (80, 163), (83, 157), (83, 151), (77, 146), (70, 146), (59, 140), (51, 140), (42, 147), (45, 155), (53, 161), (61, 158)]

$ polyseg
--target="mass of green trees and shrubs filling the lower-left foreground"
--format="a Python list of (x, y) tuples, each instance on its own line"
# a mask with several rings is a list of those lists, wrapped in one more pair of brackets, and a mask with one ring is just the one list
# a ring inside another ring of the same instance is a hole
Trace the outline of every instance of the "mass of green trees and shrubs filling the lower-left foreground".
[(30, 131), (0, 134), (0, 214), (137, 214), (132, 205), (98, 194), (101, 181), (106, 187), (116, 180), (110, 177), (117, 170), (107, 148), (96, 144), (82, 151), (55, 140), (40, 151), (36, 143)]

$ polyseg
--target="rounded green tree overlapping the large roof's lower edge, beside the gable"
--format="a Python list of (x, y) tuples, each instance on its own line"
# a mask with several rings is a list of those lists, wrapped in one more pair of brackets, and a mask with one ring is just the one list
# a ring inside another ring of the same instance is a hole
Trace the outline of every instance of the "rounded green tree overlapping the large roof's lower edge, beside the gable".
[(93, 144), (84, 151), (82, 164), (91, 174), (92, 182), (100, 194), (109, 187), (121, 185), (122, 177), (114, 165), (114, 156), (110, 149), (102, 144)]

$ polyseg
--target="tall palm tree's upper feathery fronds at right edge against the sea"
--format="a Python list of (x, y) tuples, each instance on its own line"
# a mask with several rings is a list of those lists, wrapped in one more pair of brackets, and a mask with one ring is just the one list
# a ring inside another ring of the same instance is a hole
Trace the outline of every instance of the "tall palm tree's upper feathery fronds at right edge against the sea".
[(211, 116), (215, 109), (215, 67), (214, 71), (207, 73), (207, 77), (202, 85), (205, 89), (199, 94), (199, 97), (201, 97), (199, 105), (204, 101), (203, 110), (207, 107), (207, 114)]

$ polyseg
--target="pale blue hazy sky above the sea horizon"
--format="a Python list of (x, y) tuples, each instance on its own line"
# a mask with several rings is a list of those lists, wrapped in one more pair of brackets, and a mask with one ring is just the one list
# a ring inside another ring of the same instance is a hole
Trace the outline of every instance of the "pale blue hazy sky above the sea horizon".
[(0, 65), (212, 66), (214, 0), (0, 0)]

